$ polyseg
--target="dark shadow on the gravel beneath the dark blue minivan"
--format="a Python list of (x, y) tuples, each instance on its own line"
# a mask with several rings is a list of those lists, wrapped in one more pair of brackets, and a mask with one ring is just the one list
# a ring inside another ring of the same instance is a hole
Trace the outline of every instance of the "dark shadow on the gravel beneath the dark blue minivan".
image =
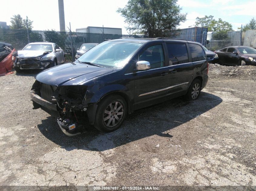
[(165, 132), (198, 117), (221, 102), (220, 97), (205, 92), (201, 92), (195, 101), (184, 101), (181, 98), (168, 100), (133, 112), (127, 116), (120, 129), (111, 133), (101, 133), (89, 126), (84, 134), (68, 137), (62, 133), (53, 117), (42, 120), (38, 129), (46, 138), (68, 151), (105, 151), (151, 135), (172, 137)]

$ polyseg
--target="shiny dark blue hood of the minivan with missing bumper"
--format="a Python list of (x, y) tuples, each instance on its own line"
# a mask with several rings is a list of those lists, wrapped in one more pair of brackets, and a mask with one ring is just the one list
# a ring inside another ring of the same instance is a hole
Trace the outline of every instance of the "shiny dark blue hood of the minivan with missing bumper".
[(53, 86), (78, 85), (112, 71), (113, 69), (68, 62), (40, 72), (35, 78), (37, 81)]

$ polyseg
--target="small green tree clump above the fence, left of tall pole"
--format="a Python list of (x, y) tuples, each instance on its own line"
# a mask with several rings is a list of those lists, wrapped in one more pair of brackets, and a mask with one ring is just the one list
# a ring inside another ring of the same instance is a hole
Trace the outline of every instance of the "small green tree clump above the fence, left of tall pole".
[(32, 30), (33, 21), (28, 19), (28, 16), (26, 16), (26, 19), (22, 19), (20, 14), (13, 15), (11, 18), (11, 26), (10, 29), (26, 29)]

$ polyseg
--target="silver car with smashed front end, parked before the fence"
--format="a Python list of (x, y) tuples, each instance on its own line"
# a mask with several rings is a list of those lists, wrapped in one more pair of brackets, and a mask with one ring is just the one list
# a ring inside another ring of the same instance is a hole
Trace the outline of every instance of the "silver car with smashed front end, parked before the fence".
[(16, 72), (23, 69), (45, 69), (64, 63), (64, 51), (55, 43), (29, 43), (14, 62)]

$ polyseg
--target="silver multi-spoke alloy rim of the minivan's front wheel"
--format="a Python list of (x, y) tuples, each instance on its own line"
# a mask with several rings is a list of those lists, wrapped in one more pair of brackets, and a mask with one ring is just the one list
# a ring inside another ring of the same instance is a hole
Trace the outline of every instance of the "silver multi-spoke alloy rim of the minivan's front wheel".
[(121, 121), (123, 114), (123, 105), (118, 101), (114, 101), (105, 109), (103, 121), (107, 127), (114, 127)]

